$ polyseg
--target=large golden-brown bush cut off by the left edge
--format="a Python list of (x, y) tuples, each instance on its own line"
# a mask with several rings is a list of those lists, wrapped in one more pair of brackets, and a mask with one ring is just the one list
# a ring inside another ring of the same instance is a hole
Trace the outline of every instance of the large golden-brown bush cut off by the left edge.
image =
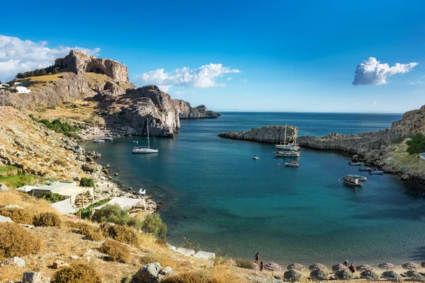
[(41, 248), (40, 239), (18, 224), (0, 223), (0, 239), (0, 260), (38, 253)]

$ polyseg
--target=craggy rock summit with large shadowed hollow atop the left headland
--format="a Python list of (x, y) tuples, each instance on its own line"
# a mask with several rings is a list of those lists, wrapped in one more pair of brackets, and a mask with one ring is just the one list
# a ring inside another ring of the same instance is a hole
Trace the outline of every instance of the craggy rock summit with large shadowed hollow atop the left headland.
[(72, 71), (75, 74), (105, 74), (113, 81), (130, 82), (128, 68), (120, 62), (111, 59), (99, 59), (78, 50), (71, 50), (66, 57), (56, 59), (55, 67), (59, 67), (62, 71)]

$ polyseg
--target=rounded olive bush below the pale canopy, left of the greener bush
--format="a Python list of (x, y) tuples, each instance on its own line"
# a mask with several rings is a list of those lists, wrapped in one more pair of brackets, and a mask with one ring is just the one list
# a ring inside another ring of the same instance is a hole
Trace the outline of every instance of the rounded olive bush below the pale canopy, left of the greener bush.
[(128, 210), (122, 209), (119, 204), (106, 204), (105, 207), (96, 211), (91, 220), (103, 223), (134, 226), (135, 229), (142, 228), (142, 221), (134, 219), (128, 213)]

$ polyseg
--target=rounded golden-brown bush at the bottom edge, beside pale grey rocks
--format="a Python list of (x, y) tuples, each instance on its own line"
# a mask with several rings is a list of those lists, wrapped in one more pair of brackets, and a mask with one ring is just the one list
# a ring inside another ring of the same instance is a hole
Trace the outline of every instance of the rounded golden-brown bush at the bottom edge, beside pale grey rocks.
[(98, 272), (90, 265), (74, 263), (55, 272), (52, 283), (101, 283)]

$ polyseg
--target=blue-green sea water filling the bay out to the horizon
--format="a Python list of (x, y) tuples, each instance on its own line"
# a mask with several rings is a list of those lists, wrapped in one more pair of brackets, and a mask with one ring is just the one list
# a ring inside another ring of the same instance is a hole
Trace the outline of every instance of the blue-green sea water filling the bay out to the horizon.
[[(280, 264), (351, 260), (358, 264), (425, 260), (425, 199), (421, 187), (392, 175), (367, 176), (363, 188), (339, 182), (357, 173), (348, 155), (302, 149), (300, 168), (278, 166), (273, 144), (217, 137), (263, 125), (294, 125), (300, 134), (375, 131), (401, 115), (223, 113), (183, 120), (174, 139), (157, 139), (159, 154), (132, 155), (132, 140), (84, 144), (98, 162), (120, 169), (118, 180), (144, 187), (161, 202), (169, 241), (183, 236), (203, 250)], [(261, 156), (253, 161), (252, 156)], [(291, 160), (291, 159), (286, 159)]]

